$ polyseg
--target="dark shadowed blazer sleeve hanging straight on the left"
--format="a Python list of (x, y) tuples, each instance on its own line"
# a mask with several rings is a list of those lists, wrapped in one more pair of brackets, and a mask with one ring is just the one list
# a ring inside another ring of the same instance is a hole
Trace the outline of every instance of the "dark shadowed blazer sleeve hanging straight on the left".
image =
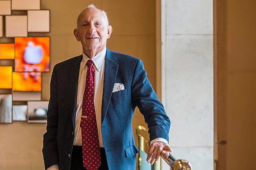
[(47, 112), (47, 132), (44, 134), (44, 146), (42, 154), (44, 155), (45, 168), (59, 164), (57, 129), (58, 129), (58, 100), (57, 100), (57, 72), (56, 66), (53, 68), (50, 84), (50, 101)]

